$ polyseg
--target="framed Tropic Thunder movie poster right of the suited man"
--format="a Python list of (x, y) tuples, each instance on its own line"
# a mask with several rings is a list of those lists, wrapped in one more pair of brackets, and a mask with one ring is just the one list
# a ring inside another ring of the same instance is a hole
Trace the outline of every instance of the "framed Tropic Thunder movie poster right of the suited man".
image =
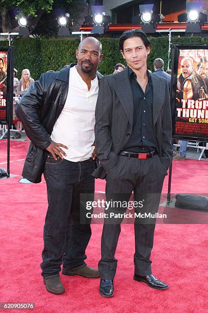
[(204, 48), (175, 48), (173, 138), (208, 139), (208, 49)]

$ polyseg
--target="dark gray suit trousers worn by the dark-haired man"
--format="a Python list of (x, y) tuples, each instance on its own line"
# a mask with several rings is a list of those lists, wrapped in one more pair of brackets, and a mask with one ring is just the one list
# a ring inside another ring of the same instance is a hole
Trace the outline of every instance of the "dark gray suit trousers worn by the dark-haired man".
[[(166, 167), (159, 155), (149, 159), (118, 156), (118, 162), (107, 173), (106, 200), (127, 201), (134, 192), (134, 200), (142, 201), (142, 208), (135, 212), (155, 214), (158, 211)], [(126, 209), (110, 207), (110, 214), (123, 213)], [(101, 279), (113, 279), (116, 274), (115, 252), (121, 231), (121, 218), (106, 218), (102, 230), (101, 259), (98, 269)], [(151, 274), (150, 255), (153, 246), (155, 218), (135, 218), (135, 273)]]

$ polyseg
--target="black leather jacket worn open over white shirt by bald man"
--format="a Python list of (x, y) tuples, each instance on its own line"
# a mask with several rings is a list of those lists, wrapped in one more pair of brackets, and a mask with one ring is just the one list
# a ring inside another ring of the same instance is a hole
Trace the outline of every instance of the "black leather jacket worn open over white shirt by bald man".
[[(46, 150), (50, 145), (50, 135), (64, 107), (70, 68), (59, 72), (44, 73), (35, 81), (16, 106), (15, 112), (24, 126), (31, 144), (24, 163), (22, 176), (32, 183), (40, 183), (44, 169)], [(97, 72), (98, 80), (102, 75)]]

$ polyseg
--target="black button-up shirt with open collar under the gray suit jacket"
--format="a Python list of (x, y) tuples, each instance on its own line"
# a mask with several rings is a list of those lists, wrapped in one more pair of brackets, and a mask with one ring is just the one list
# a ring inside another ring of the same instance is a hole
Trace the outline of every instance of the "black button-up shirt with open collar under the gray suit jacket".
[(132, 135), (123, 150), (131, 152), (156, 150), (152, 120), (153, 92), (151, 78), (147, 72), (148, 83), (144, 93), (137, 81), (137, 75), (130, 68), (128, 68), (128, 73), (132, 87), (134, 117)]

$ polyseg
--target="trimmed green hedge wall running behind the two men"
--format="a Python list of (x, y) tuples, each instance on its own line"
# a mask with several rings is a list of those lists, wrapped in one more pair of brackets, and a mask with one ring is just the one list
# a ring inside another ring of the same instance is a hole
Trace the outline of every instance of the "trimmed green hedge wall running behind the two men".
[[(102, 75), (112, 74), (116, 63), (126, 65), (119, 48), (118, 38), (99, 38), (102, 43), (103, 60), (98, 66)], [(147, 60), (147, 68), (153, 71), (155, 58), (162, 58), (165, 62), (165, 70), (168, 65), (168, 36), (150, 38), (152, 48)], [(75, 51), (79, 46), (79, 39), (18, 39), (14, 42), (14, 67), (18, 70), (18, 78), (21, 71), (29, 69), (31, 77), (39, 79), (40, 75), (48, 70), (58, 71), (64, 65), (76, 62)], [(208, 37), (172, 37), (172, 43), (203, 43), (208, 44)], [(8, 46), (8, 41), (0, 41), (0, 49)]]

